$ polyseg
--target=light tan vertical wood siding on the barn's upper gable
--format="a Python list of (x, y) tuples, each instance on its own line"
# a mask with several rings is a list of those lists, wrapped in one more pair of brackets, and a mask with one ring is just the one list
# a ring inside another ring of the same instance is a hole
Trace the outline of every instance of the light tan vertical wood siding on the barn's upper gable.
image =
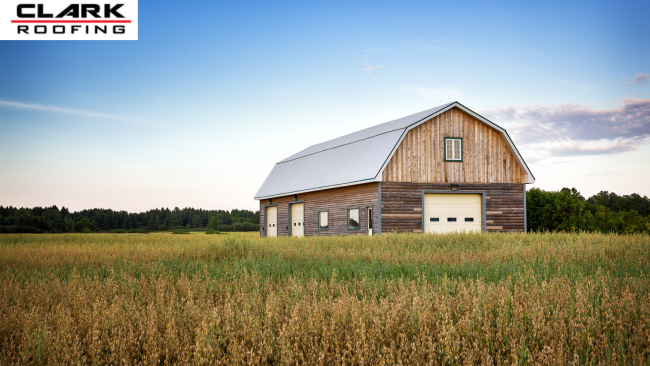
[[(463, 161), (445, 162), (443, 139), (463, 138)], [(453, 108), (409, 131), (384, 182), (525, 183), (525, 170), (497, 130)]]

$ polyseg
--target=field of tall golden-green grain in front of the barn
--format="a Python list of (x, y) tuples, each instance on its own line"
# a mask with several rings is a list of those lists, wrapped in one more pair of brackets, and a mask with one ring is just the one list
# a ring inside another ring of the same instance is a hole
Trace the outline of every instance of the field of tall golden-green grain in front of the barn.
[(0, 364), (650, 364), (650, 237), (0, 235)]

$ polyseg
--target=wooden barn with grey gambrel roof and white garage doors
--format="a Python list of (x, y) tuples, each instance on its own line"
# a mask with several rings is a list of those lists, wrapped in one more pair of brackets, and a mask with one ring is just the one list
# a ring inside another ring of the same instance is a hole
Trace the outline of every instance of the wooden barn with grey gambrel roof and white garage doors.
[(255, 199), (263, 237), (513, 232), (534, 182), (506, 130), (453, 102), (289, 156)]

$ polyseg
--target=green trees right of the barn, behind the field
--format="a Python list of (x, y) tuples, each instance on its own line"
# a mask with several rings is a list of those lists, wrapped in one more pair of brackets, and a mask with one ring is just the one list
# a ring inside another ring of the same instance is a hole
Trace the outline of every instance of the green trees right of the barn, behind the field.
[(650, 199), (601, 191), (587, 199), (575, 188), (526, 192), (528, 231), (650, 234)]

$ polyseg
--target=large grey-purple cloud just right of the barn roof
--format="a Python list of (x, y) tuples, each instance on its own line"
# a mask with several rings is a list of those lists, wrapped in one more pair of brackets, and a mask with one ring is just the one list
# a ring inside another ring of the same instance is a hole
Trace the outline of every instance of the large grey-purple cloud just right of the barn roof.
[(615, 109), (580, 104), (505, 107), (480, 112), (537, 158), (604, 155), (636, 150), (650, 141), (650, 99), (626, 99)]

